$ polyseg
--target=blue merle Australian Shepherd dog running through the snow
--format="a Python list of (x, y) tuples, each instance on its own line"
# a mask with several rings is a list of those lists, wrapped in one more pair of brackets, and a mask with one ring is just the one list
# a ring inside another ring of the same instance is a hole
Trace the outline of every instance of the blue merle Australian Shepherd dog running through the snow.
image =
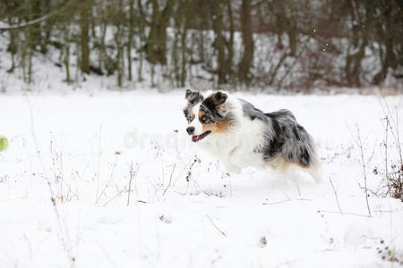
[(313, 138), (288, 110), (263, 113), (224, 91), (187, 89), (184, 116), (192, 141), (218, 158), (227, 172), (248, 166), (270, 167), (286, 174), (295, 167), (322, 180), (321, 161)]

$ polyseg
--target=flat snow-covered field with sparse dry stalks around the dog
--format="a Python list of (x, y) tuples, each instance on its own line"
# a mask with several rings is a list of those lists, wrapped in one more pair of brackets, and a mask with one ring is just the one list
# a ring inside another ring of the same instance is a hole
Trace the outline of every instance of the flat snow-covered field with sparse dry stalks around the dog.
[[(237, 94), (296, 114), (322, 156), (315, 184), (304, 173), (227, 175), (185, 135), (183, 91), (94, 92), (0, 94), (10, 140), (0, 152), (0, 267), (403, 264), (388, 261), (403, 262), (403, 203), (370, 192), (368, 217), (360, 188), (358, 130), (368, 188), (382, 180), (378, 96)], [(403, 116), (402, 96), (386, 102)]]

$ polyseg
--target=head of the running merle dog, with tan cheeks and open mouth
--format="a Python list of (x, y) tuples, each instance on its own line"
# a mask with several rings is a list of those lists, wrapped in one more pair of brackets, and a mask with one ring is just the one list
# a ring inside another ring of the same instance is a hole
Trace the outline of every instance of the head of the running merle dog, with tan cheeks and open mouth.
[(184, 116), (189, 126), (186, 131), (197, 142), (210, 134), (224, 133), (228, 129), (227, 94), (215, 92), (204, 98), (200, 92), (186, 90)]

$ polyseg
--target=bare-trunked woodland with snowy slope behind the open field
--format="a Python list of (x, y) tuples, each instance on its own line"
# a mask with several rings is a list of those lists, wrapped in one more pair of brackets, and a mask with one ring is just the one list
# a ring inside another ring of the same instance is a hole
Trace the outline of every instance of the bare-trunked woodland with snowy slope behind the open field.
[(403, 84), (399, 0), (2, 0), (0, 21), (6, 71), (27, 83), (32, 59), (45, 55), (66, 83), (97, 75), (129, 88)]

